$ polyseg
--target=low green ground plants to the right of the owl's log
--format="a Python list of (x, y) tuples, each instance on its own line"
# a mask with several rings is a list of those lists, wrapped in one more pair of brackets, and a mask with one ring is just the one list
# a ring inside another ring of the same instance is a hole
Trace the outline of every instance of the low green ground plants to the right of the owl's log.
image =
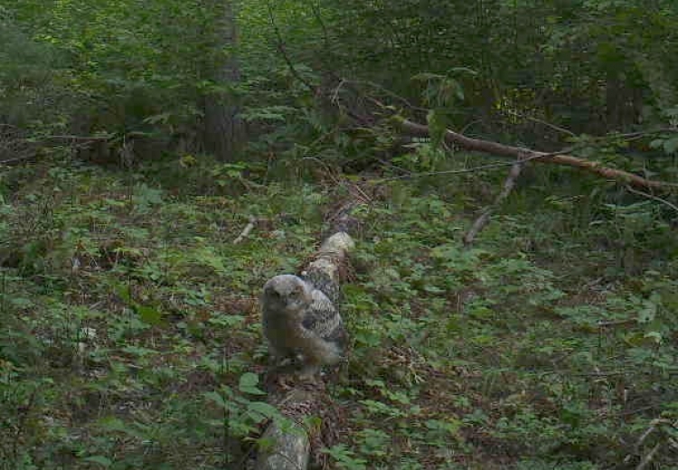
[[(407, 201), (372, 210), (374, 231), (357, 253), (369, 274), (344, 289), (355, 376), (378, 379), (344, 390), (361, 409), (353, 414), (353, 454), (334, 458), (360, 456), (390, 467), (414, 454), (439, 468), (474, 461), (474, 452), (495, 445), (521, 468), (564, 465), (559, 462), (598, 468), (625, 458), (627, 449), (616, 443), (637, 437), (653, 416), (668, 412), (662, 404), (675, 400), (667, 374), (675, 370), (669, 359), (675, 352), (665, 335), (676, 326), (674, 315), (661, 313), (673, 311), (664, 302), (675, 265), (664, 258), (664, 274), (610, 272), (603, 260), (617, 257), (615, 247), (601, 249), (596, 234), (621, 227), (634, 233), (642, 220), (643, 240), (627, 249), (634, 269), (653, 265), (662, 250), (675, 249), (666, 239), (654, 254), (642, 253), (648, 240), (663, 240), (664, 221), (653, 207), (600, 207), (598, 223), (572, 226), (566, 235), (559, 221), (571, 215), (561, 207), (548, 210), (551, 224), (534, 225), (538, 213), (506, 216), (481, 248), (465, 249), (450, 240), (460, 223), (459, 202), (411, 189)], [(544, 241), (535, 247), (523, 233), (571, 248)], [(598, 287), (600, 275), (617, 281)], [(438, 381), (438, 374), (446, 379)], [(636, 404), (646, 400), (658, 408), (645, 414)], [(626, 422), (626, 413), (644, 424)], [(384, 435), (389, 445), (374, 444)], [(553, 460), (534, 460), (545, 455)]]

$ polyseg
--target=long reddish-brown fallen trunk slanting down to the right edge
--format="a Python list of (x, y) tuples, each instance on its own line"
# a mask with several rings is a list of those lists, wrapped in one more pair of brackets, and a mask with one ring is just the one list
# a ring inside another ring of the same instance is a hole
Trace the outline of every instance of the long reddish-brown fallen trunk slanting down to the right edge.
[[(400, 120), (400, 129), (410, 136), (429, 136), (428, 126), (410, 121), (409, 119)], [(547, 154), (544, 152), (532, 150), (530, 148), (504, 146), (504, 144), (499, 144), (489, 140), (467, 137), (449, 129), (447, 129), (445, 132), (445, 141), (448, 144), (466, 148), (466, 150), (476, 150), (478, 152), (485, 152), (487, 154), (510, 156), (516, 159), (525, 156), (523, 163), (534, 161), (540, 163), (572, 166), (588, 171), (589, 173), (598, 174), (598, 176), (602, 176), (609, 180), (614, 180), (619, 183), (626, 183), (636, 188), (655, 189), (674, 193), (678, 192), (678, 184), (676, 183), (648, 180), (647, 178), (637, 174), (629, 173), (624, 170), (617, 170), (616, 168), (609, 168), (599, 164), (598, 162), (592, 162), (590, 160), (579, 158), (573, 155), (563, 155), (560, 153)]]

